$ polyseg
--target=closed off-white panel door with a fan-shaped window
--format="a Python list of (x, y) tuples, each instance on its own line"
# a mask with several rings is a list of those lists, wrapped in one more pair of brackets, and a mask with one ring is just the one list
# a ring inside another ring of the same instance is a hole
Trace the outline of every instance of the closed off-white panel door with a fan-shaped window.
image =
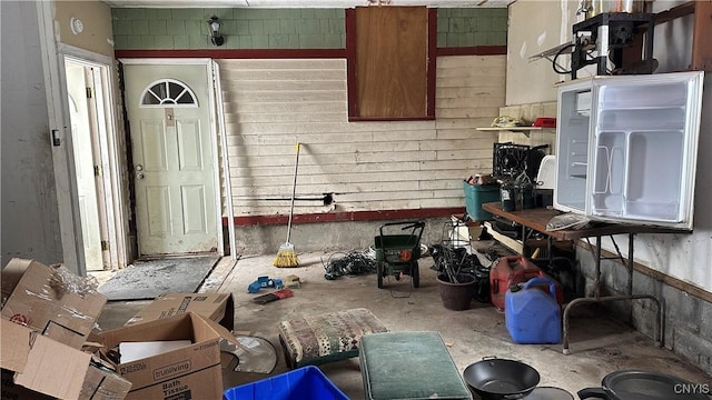
[(218, 250), (206, 66), (126, 64), (139, 256)]

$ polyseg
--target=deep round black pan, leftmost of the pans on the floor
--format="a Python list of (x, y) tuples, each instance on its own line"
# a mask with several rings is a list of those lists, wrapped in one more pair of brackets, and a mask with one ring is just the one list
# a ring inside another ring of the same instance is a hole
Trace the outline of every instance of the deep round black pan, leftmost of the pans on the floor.
[(463, 372), (465, 382), (485, 400), (523, 399), (540, 381), (538, 372), (520, 361), (483, 359)]

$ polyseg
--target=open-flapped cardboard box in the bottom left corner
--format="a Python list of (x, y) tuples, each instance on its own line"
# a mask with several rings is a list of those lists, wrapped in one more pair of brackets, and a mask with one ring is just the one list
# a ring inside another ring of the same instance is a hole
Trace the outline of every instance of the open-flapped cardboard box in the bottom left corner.
[(91, 354), (0, 320), (2, 399), (121, 400), (131, 382), (96, 366)]

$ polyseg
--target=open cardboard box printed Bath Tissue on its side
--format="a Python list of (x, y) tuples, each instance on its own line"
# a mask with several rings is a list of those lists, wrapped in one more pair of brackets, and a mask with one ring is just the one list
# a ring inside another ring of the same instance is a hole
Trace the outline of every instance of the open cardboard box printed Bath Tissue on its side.
[(117, 371), (131, 381), (127, 399), (221, 399), (221, 339), (240, 346), (219, 323), (195, 312), (99, 332), (107, 349), (121, 342), (182, 340), (192, 344), (131, 362), (119, 362)]

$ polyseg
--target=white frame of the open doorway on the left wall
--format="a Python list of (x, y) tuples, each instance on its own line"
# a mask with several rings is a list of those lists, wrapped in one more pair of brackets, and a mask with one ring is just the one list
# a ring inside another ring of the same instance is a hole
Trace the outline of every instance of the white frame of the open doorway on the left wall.
[(44, 91), (49, 117), (48, 140), (52, 143), (52, 163), (55, 187), (57, 190), (58, 219), (62, 261), (78, 276), (87, 276), (79, 212), (79, 194), (77, 190), (75, 153), (71, 142), (70, 111), (67, 90), (65, 59), (82, 60), (100, 71), (102, 81), (102, 111), (106, 127), (106, 154), (101, 154), (102, 163), (108, 166), (105, 180), (103, 200), (109, 217), (108, 242), (110, 248), (109, 266), (119, 269), (127, 266), (127, 217), (121, 199), (126, 198), (125, 186), (120, 179), (122, 160), (121, 141), (117, 123), (116, 88), (117, 76), (111, 57), (61, 43), (55, 37), (53, 4), (50, 1), (37, 2), (37, 16), (40, 33), (40, 53), (44, 76)]

